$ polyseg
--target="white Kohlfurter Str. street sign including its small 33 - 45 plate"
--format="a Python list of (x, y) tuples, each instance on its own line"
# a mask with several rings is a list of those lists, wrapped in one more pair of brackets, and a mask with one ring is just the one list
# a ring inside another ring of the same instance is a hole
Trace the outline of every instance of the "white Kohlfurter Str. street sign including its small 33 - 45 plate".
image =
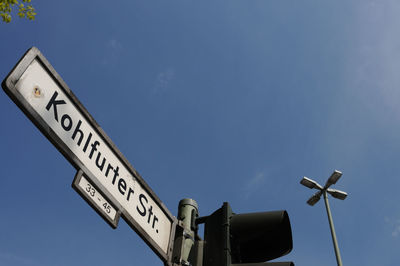
[(43, 54), (29, 49), (4, 91), (78, 170), (73, 188), (113, 227), (120, 216), (166, 263), (176, 218), (122, 155)]

